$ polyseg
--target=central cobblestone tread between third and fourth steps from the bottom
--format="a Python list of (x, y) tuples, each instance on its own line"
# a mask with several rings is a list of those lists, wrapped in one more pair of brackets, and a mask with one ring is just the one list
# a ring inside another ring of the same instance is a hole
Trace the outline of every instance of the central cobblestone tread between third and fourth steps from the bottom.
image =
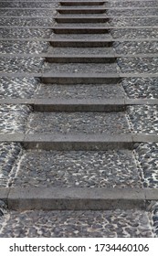
[(41, 84), (36, 94), (37, 98), (54, 99), (113, 99), (124, 96), (125, 93), (118, 84), (74, 84), (64, 86), (59, 84)]

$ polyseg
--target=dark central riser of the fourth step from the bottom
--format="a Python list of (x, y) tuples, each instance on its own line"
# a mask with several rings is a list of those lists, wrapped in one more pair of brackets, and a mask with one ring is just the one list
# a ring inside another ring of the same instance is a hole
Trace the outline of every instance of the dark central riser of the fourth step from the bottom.
[(58, 84), (75, 84), (75, 83), (80, 83), (80, 84), (116, 84), (120, 81), (120, 78), (79, 78), (79, 77), (70, 77), (70, 78), (51, 78), (51, 77), (46, 77), (46, 78), (41, 78), (41, 82), (43, 83), (58, 83)]

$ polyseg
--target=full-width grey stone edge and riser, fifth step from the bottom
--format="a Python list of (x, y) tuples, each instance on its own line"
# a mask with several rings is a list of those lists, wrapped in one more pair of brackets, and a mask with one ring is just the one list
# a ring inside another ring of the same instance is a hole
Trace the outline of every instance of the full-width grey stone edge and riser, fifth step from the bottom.
[[(113, 48), (112, 48), (113, 50)], [(108, 61), (116, 61), (117, 58), (158, 58), (157, 53), (140, 53), (140, 54), (117, 54), (115, 52), (107, 54), (78, 54), (78, 55), (58, 55), (51, 52), (46, 53), (0, 53), (0, 58), (44, 58), (47, 62), (65, 63), (72, 61), (78, 63), (79, 61), (105, 63)]]

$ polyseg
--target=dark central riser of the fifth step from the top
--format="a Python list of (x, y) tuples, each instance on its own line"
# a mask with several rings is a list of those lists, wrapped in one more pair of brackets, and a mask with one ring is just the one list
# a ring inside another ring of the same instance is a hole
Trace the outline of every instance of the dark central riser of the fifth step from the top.
[(52, 47), (62, 47), (62, 48), (111, 48), (112, 47), (112, 42), (106, 42), (106, 41), (50, 41), (50, 45)]

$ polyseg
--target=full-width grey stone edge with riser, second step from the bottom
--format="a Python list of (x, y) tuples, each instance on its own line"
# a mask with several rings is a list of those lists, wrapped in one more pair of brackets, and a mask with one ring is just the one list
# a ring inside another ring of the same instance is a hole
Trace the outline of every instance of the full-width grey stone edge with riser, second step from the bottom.
[(26, 149), (42, 150), (111, 150), (133, 149), (135, 143), (158, 143), (157, 134), (62, 134), (0, 133), (0, 143), (20, 143)]

